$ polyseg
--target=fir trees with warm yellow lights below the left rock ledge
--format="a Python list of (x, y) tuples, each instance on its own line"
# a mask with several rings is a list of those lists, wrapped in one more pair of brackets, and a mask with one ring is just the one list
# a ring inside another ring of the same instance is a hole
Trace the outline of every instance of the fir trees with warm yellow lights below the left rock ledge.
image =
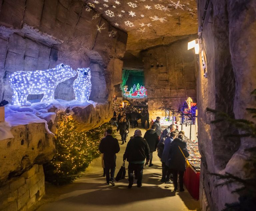
[(58, 130), (56, 134), (56, 154), (44, 164), (45, 180), (62, 185), (73, 182), (78, 173), (84, 171), (90, 162), (100, 155), (98, 151), (104, 131), (113, 126), (105, 123), (88, 132), (76, 130), (72, 117), (58, 114)]

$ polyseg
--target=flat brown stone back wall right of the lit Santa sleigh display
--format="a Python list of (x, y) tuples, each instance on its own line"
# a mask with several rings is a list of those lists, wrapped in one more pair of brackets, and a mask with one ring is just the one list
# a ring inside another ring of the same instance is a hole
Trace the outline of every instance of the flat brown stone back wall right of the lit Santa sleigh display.
[(159, 106), (177, 111), (187, 97), (196, 102), (196, 57), (192, 50), (187, 50), (188, 41), (194, 39), (190, 35), (142, 52), (150, 118), (165, 115)]

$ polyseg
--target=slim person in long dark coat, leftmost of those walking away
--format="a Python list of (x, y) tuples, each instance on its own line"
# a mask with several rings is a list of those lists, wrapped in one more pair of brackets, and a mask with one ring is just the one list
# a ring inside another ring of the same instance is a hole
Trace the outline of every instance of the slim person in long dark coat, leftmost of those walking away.
[[(113, 138), (112, 130), (106, 130), (106, 137), (102, 138), (99, 145), (99, 151), (103, 153), (107, 184), (115, 186), (114, 175), (116, 169), (116, 153), (120, 151), (118, 140)], [(110, 173), (109, 173), (110, 171)]]

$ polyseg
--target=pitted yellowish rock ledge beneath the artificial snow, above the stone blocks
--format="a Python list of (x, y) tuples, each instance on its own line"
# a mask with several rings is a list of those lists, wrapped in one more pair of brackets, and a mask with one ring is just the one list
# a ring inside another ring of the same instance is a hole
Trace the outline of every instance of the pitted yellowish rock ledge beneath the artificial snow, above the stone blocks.
[(15, 126), (14, 138), (0, 141), (0, 184), (8, 178), (19, 176), (33, 164), (50, 161), (55, 153), (54, 135), (45, 129), (45, 123)]

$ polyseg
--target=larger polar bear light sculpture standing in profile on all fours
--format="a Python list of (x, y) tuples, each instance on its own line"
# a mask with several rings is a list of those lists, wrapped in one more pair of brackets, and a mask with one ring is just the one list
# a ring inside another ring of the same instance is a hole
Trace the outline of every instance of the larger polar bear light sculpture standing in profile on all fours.
[(41, 102), (54, 99), (56, 86), (77, 74), (70, 66), (63, 63), (55, 68), (36, 71), (18, 71), (10, 76), (11, 87), (14, 95), (12, 104), (30, 106), (27, 101), (29, 94), (44, 94)]

